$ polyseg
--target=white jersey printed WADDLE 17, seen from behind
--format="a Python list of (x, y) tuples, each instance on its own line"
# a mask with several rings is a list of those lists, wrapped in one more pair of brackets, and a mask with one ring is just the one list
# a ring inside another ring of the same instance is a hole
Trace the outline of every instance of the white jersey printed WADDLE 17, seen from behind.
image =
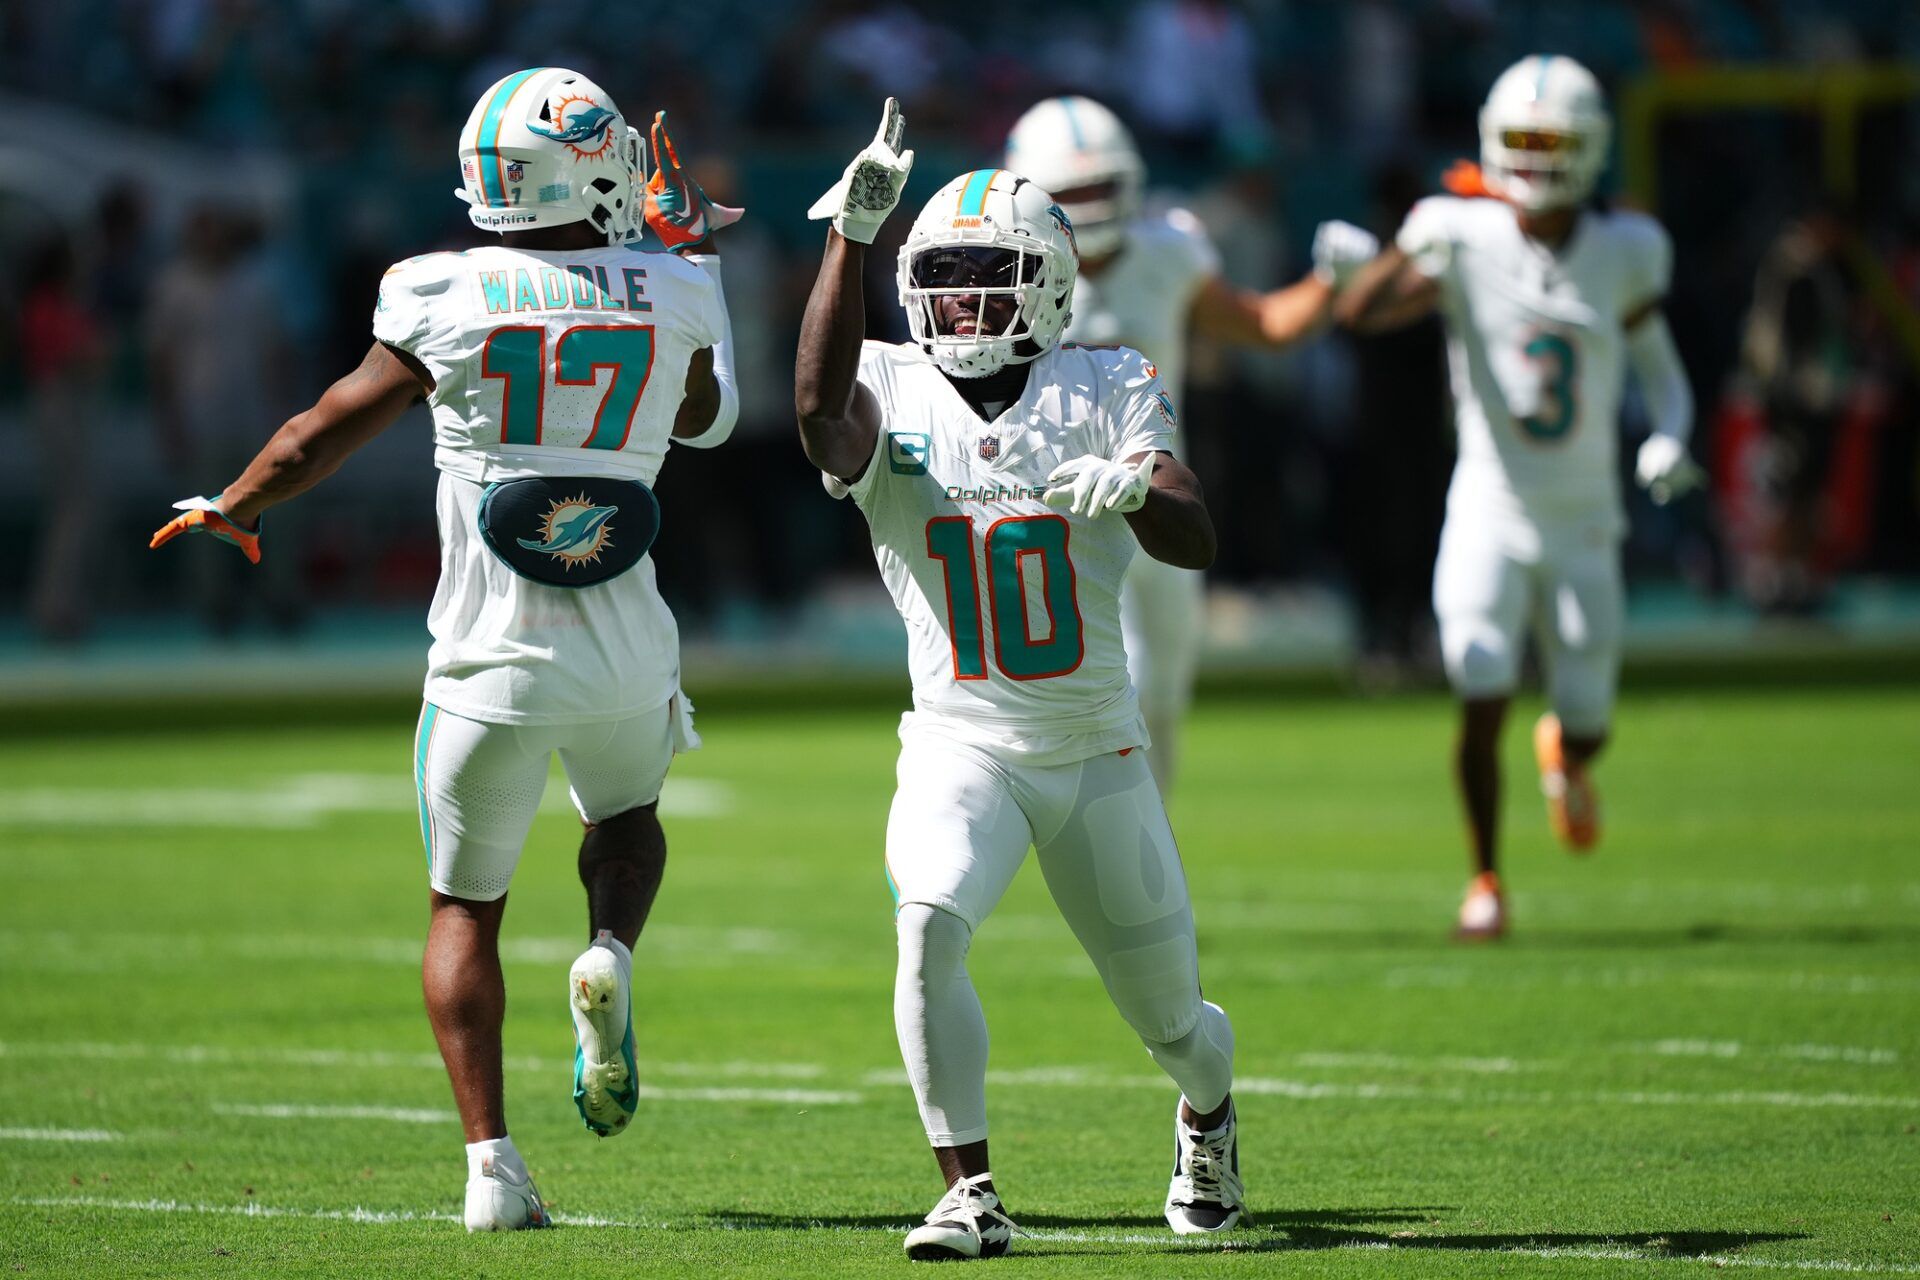
[[(718, 278), (670, 253), (488, 246), (386, 273), (374, 338), (434, 378), (428, 702), (492, 723), (568, 723), (637, 716), (676, 693), (680, 633), (651, 558), (589, 587), (534, 581), (488, 549), (480, 503), (492, 484), (536, 476), (651, 487), (687, 365), (726, 328)], [(559, 510), (553, 524), (576, 514)], [(595, 543), (616, 543), (630, 514), (589, 509), (586, 524)]]

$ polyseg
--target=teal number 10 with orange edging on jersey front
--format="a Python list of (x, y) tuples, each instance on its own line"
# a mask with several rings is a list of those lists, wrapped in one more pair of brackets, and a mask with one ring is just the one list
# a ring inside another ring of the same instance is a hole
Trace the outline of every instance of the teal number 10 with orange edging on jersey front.
[[(993, 662), (1008, 679), (1050, 679), (1079, 668), (1087, 652), (1068, 557), (1064, 516), (1008, 516), (987, 528), (987, 601), (993, 610)], [(947, 635), (954, 651), (954, 679), (985, 679), (985, 626), (979, 574), (973, 568), (973, 522), (966, 516), (927, 520), (927, 555), (941, 562), (947, 583)], [(1033, 635), (1027, 618), (1027, 578), (1041, 576), (1048, 626)]]

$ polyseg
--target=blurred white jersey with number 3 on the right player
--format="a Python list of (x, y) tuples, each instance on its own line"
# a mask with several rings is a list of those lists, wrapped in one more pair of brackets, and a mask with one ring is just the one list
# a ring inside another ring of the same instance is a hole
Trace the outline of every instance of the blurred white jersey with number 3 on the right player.
[(1548, 249), (1498, 200), (1434, 196), (1396, 242), (1440, 284), (1459, 430), (1450, 510), (1619, 524), (1620, 320), (1667, 294), (1661, 225), (1588, 209)]

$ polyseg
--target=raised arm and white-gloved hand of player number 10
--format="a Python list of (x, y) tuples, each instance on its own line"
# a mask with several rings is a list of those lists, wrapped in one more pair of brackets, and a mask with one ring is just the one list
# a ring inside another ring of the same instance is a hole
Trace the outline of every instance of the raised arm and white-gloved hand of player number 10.
[(914, 154), (902, 152), (906, 117), (900, 102), (887, 98), (879, 129), (841, 180), (806, 211), (829, 219), (828, 251), (801, 319), (801, 349), (793, 365), (793, 413), (801, 424), (806, 461), (839, 480), (866, 470), (879, 436), (879, 405), (860, 386), (860, 342), (866, 338), (862, 273), (866, 246), (900, 201)]

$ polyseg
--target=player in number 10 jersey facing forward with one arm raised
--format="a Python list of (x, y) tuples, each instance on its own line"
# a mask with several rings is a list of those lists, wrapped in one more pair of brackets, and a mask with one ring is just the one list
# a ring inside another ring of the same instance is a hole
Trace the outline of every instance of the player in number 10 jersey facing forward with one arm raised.
[(1173, 405), (1139, 351), (1062, 344), (1066, 211), (1008, 169), (966, 173), (897, 263), (912, 342), (862, 342), (866, 246), (912, 152), (889, 98), (874, 142), (812, 207), (831, 219), (801, 328), (808, 461), (845, 484), (906, 622), (885, 867), (895, 1029), (947, 1194), (914, 1259), (1004, 1253), (987, 1159), (987, 1023), (973, 931), (1027, 848), (1121, 1017), (1179, 1084), (1164, 1205), (1183, 1234), (1240, 1219), (1233, 1025), (1200, 996), (1192, 908), (1127, 681), (1119, 589), (1135, 551), (1200, 570), (1213, 524), (1173, 455)]

